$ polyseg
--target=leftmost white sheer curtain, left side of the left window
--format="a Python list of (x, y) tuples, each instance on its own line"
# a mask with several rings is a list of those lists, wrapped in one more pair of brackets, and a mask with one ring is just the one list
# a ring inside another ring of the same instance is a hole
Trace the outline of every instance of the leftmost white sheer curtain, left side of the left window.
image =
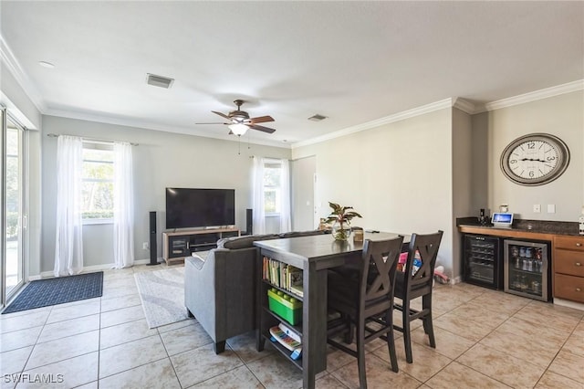
[(55, 277), (83, 269), (81, 221), (81, 167), (83, 142), (75, 136), (60, 135), (57, 141), (57, 236)]

